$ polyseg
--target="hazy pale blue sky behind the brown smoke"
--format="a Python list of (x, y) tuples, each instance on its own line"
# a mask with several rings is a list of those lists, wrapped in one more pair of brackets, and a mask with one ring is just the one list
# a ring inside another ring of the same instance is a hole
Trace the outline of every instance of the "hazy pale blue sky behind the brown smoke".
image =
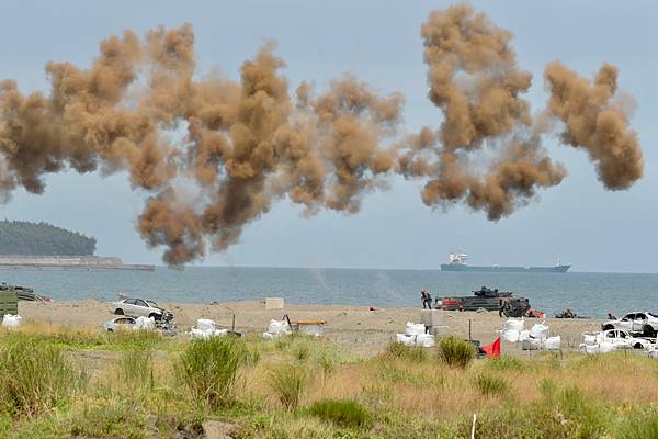
[[(311, 80), (321, 89), (350, 72), (379, 93), (401, 92), (409, 132), (438, 126), (441, 112), (427, 99), (420, 26), (445, 1), (124, 1), (0, 2), (0, 78), (22, 91), (47, 91), (49, 60), (88, 66), (99, 42), (131, 29), (138, 34), (189, 22), (200, 70), (238, 78), (239, 66), (275, 40), (284, 74), (295, 88)], [(472, 2), (514, 34), (521, 68), (533, 75), (526, 99), (544, 106), (543, 69), (560, 60), (590, 78), (602, 63), (620, 68), (620, 88), (634, 95), (632, 127), (645, 158), (645, 176), (631, 190), (610, 192), (582, 150), (545, 138), (568, 177), (541, 191), (512, 216), (489, 222), (464, 206), (427, 207), (423, 182), (393, 178), (364, 199), (360, 213), (320, 212), (303, 217), (287, 200), (245, 229), (240, 241), (197, 264), (439, 269), (460, 249), (474, 264), (554, 264), (575, 271), (658, 271), (658, 4), (653, 1)], [(46, 177), (46, 191), (16, 190), (0, 218), (46, 221), (94, 236), (97, 254), (126, 262), (161, 263), (135, 232), (148, 194), (133, 192), (125, 173), (64, 172)]]

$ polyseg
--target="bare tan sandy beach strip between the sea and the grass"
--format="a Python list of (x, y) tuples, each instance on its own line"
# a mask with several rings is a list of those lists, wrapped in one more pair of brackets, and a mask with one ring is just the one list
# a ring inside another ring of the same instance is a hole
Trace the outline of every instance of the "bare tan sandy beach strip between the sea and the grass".
[[(175, 315), (175, 323), (182, 334), (196, 323), (198, 318), (212, 318), (224, 327), (230, 327), (232, 316), (236, 319), (236, 330), (246, 334), (261, 334), (270, 319), (281, 319), (287, 314), (291, 320), (322, 319), (327, 322), (325, 336), (360, 356), (373, 356), (385, 349), (397, 333), (404, 333), (407, 322), (420, 322), (420, 308), (384, 307), (371, 311), (365, 306), (349, 305), (298, 305), (285, 304), (284, 309), (266, 311), (262, 302), (220, 302), (217, 304), (161, 303)], [(107, 302), (89, 299), (72, 302), (21, 302), (19, 313), (27, 320), (49, 322), (56, 326), (80, 328), (99, 328), (111, 319), (111, 305)], [(504, 318), (495, 312), (444, 312), (446, 333), (470, 336), (491, 342), (498, 337)], [(527, 319), (530, 328), (537, 319)], [(552, 335), (559, 335), (564, 350), (576, 350), (583, 331), (599, 330), (601, 320), (598, 319), (556, 319), (548, 318)], [(503, 352), (529, 356), (520, 346), (503, 344)]]

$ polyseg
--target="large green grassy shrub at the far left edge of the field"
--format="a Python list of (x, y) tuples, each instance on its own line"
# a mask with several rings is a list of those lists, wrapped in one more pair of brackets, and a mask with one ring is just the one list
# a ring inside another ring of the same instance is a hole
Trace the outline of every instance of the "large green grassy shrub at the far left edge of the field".
[(43, 414), (80, 390), (87, 378), (57, 346), (21, 336), (0, 346), (0, 398), (15, 414)]

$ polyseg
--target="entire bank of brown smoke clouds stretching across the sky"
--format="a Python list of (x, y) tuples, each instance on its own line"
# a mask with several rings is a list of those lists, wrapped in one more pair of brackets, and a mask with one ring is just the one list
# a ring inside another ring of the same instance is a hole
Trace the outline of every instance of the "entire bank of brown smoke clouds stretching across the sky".
[[(0, 194), (42, 193), (44, 177), (66, 169), (126, 171), (150, 195), (139, 234), (181, 264), (237, 243), (279, 199), (306, 215), (355, 213), (394, 173), (426, 180), (429, 206), (465, 202), (489, 219), (558, 184), (566, 171), (541, 146), (549, 124), (522, 98), (532, 77), (517, 66), (512, 35), (467, 5), (432, 12), (421, 35), (443, 117), (400, 139), (401, 95), (349, 75), (326, 91), (303, 82), (291, 92), (273, 43), (234, 81), (200, 77), (189, 24), (143, 38), (126, 31), (103, 41), (88, 69), (49, 63), (47, 94), (0, 82)], [(606, 188), (629, 187), (642, 153), (616, 69), (590, 83), (554, 64), (545, 78), (543, 114), (564, 122), (560, 138), (588, 150)]]

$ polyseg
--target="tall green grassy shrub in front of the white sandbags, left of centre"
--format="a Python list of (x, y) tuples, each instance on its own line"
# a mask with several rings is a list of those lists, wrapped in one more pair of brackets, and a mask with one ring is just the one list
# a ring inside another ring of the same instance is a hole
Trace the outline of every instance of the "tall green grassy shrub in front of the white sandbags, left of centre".
[(194, 398), (214, 408), (232, 402), (243, 358), (245, 346), (238, 338), (194, 340), (182, 353), (175, 370)]

